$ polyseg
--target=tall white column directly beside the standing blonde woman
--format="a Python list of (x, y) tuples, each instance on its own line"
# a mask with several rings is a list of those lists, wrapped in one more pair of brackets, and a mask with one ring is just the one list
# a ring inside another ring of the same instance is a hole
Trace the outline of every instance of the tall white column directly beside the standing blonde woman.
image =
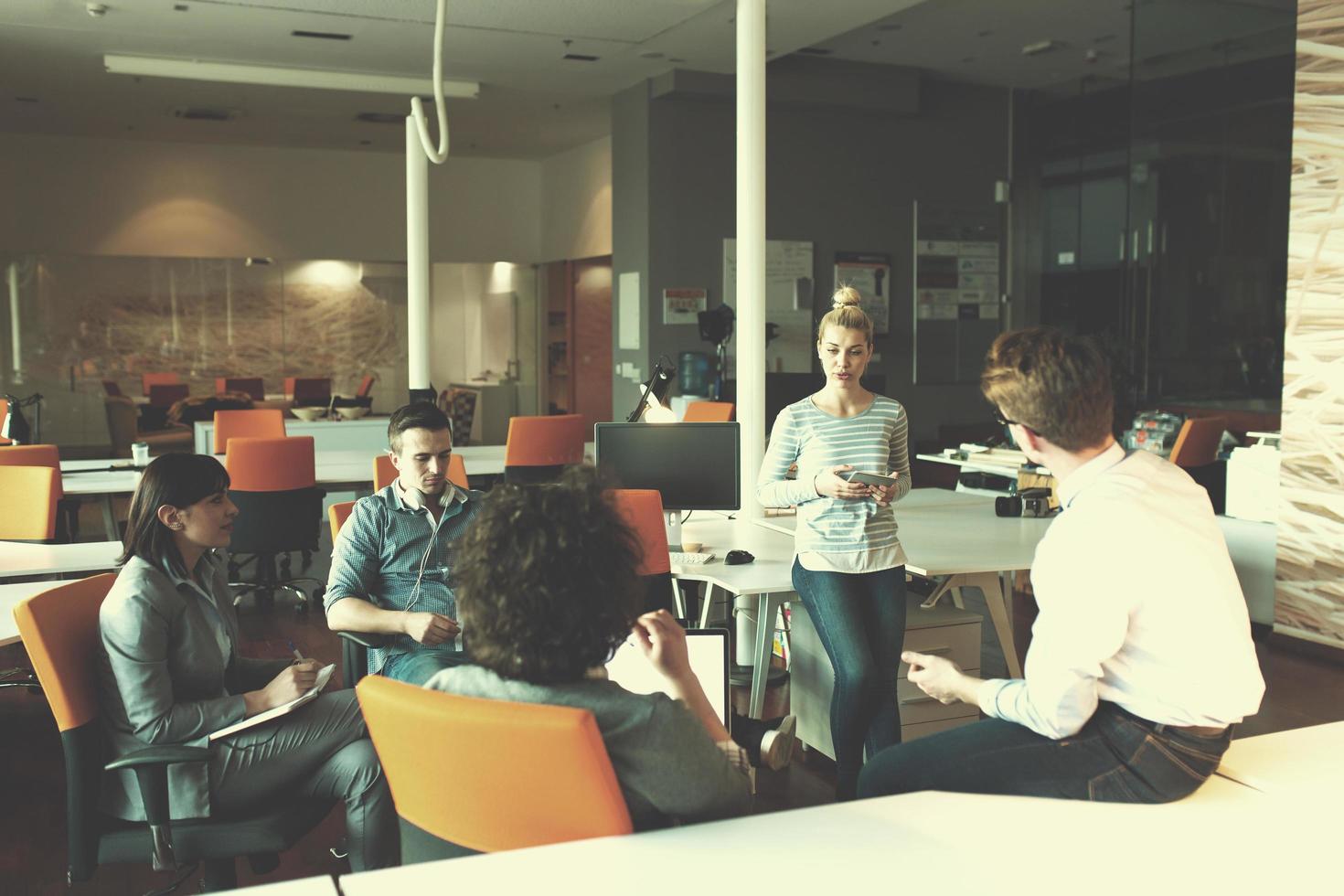
[(738, 0), (738, 420), (742, 514), (759, 517), (765, 455), (765, 0)]

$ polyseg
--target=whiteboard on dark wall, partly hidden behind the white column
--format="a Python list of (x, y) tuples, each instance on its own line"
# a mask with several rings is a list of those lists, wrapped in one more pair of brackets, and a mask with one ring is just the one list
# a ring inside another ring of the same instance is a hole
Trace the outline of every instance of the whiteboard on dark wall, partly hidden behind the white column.
[[(738, 240), (723, 240), (723, 304), (737, 309)], [(765, 243), (765, 320), (774, 336), (765, 347), (766, 371), (810, 373), (812, 243), (767, 239)], [(734, 340), (728, 340), (732, 355)], [(730, 365), (731, 369), (731, 365)]]

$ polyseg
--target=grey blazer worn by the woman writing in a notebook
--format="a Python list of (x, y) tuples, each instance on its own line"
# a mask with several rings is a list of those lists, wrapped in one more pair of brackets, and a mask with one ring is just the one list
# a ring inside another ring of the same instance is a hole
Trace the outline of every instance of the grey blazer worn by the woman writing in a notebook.
[[(289, 665), (238, 656), (227, 562), (223, 552), (210, 551), (200, 564), (210, 594), (132, 557), (102, 602), (98, 700), (113, 756), (151, 744), (208, 746), (210, 732), (243, 717), (242, 695)], [(210, 815), (207, 763), (169, 766), (168, 803), (173, 818)], [(101, 805), (118, 818), (145, 819), (130, 770), (103, 775)]]

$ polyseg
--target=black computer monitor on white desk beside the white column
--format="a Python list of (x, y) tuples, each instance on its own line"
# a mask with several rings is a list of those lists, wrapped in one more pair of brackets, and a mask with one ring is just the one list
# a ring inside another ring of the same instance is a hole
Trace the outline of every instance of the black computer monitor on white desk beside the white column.
[(625, 489), (656, 489), (664, 510), (742, 506), (737, 423), (598, 423), (597, 465)]

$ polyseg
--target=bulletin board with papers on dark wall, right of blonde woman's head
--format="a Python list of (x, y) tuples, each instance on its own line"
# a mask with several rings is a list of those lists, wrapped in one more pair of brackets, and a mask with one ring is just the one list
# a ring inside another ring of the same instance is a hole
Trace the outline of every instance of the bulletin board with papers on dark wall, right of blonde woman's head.
[(914, 382), (973, 383), (1001, 329), (999, 207), (914, 204)]

